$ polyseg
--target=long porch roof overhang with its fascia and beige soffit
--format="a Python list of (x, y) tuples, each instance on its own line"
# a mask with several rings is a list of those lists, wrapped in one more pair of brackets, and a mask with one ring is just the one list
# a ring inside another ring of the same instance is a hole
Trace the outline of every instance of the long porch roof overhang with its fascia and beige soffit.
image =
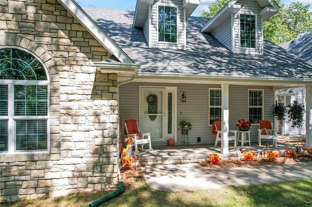
[[(129, 79), (129, 78), (128, 78)], [(127, 81), (120, 76), (118, 81)], [(137, 83), (171, 83), (171, 84), (230, 84), (238, 86), (273, 86), (279, 88), (312, 86), (312, 79), (273, 78), (273, 77), (242, 77), (217, 75), (183, 75), (183, 74), (155, 74), (137, 73), (132, 82)]]

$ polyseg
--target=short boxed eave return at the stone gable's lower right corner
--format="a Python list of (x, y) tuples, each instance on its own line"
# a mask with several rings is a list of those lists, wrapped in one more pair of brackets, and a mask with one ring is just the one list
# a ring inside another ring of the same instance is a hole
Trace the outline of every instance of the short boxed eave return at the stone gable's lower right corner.
[(125, 63), (94, 62), (93, 64), (101, 73), (118, 74), (118, 76), (126, 79), (131, 79), (141, 67), (140, 64)]

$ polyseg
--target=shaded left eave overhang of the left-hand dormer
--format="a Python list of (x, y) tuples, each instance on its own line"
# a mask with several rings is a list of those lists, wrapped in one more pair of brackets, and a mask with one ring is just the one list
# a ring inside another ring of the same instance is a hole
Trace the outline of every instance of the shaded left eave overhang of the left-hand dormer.
[(148, 7), (152, 5), (154, 0), (137, 0), (135, 17), (133, 18), (133, 26), (143, 28), (146, 16), (148, 14)]

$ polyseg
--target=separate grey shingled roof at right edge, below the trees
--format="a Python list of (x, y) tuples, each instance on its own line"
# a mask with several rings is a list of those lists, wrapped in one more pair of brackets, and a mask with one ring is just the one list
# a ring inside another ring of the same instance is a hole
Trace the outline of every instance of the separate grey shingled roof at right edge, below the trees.
[(309, 63), (312, 63), (312, 33), (301, 35), (280, 46), (298, 57), (305, 59)]

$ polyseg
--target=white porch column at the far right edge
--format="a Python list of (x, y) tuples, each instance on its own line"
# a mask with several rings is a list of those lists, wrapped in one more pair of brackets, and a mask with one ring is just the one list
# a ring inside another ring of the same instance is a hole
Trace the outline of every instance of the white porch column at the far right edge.
[(312, 86), (306, 86), (306, 148), (312, 147)]

